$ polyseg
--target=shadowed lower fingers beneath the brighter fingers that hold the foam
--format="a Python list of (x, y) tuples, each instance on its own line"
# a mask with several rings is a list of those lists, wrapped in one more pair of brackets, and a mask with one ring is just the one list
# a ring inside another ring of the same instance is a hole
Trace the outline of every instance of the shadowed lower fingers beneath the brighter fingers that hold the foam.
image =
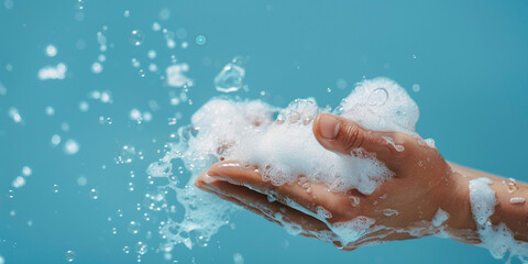
[[(206, 179), (205, 179), (206, 178)], [(278, 223), (288, 229), (288, 232), (300, 232), (306, 237), (315, 237), (315, 233), (328, 231), (327, 224), (314, 217), (287, 207), (278, 201), (268, 201), (267, 196), (250, 190), (240, 185), (233, 185), (223, 180), (208, 180), (205, 174), (196, 182), (196, 186), (212, 193), (220, 198), (234, 202), (253, 211), (267, 220)]]

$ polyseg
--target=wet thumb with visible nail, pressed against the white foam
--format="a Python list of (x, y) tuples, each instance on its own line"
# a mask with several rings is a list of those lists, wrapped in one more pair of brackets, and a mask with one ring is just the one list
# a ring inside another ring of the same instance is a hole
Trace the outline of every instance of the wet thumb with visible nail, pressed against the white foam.
[(370, 131), (338, 116), (321, 113), (314, 120), (314, 135), (327, 150), (351, 155), (356, 148), (375, 153), (376, 158), (393, 163), (405, 152), (405, 136), (397, 132)]

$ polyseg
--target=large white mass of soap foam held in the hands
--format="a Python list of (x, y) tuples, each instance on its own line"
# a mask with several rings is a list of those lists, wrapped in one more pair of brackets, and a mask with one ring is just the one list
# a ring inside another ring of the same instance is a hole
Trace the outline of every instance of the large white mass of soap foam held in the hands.
[[(190, 127), (179, 130), (179, 141), (169, 144), (166, 156), (148, 169), (152, 176), (170, 178), (173, 173), (167, 164), (180, 160), (190, 173), (186, 187), (169, 185), (185, 208), (185, 217), (182, 221), (172, 219), (162, 229), (167, 241), (190, 248), (191, 234), (209, 240), (238, 210), (237, 206), (194, 187), (199, 174), (219, 161), (257, 165), (263, 179), (277, 186), (297, 183), (302, 175), (304, 180), (324, 184), (332, 191), (358, 189), (365, 195), (394, 176), (373, 154), (354, 151), (352, 155), (341, 155), (323, 148), (312, 133), (314, 119), (321, 112), (339, 114), (371, 130), (410, 134), (416, 134), (419, 116), (405, 89), (386, 78), (360, 82), (333, 111), (319, 108), (315, 99), (297, 99), (279, 109), (260, 100), (213, 98), (191, 117)], [(324, 208), (319, 208), (318, 213), (298, 205), (294, 208), (323, 222), (331, 218)], [(314, 235), (348, 243), (361, 238), (374, 222), (359, 216), (350, 222), (329, 224), (330, 233)], [(290, 227), (290, 233), (298, 233), (292, 223), (285, 227)]]

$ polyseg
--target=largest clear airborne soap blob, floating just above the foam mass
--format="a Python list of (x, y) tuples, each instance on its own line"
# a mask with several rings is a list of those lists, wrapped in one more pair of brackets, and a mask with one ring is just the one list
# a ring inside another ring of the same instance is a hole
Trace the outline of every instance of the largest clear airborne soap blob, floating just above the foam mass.
[(245, 69), (245, 61), (240, 57), (233, 58), (232, 63), (223, 66), (222, 70), (215, 77), (215, 87), (221, 92), (238, 91), (242, 88)]

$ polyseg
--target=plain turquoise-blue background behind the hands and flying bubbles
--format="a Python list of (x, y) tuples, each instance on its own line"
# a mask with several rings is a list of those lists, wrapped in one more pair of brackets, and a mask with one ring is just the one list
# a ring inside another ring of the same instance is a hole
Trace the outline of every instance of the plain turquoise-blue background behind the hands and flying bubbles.
[[(136, 254), (122, 249), (133, 251), (140, 240), (148, 244), (142, 263), (167, 262), (154, 253), (160, 240), (155, 226), (142, 218), (145, 209), (135, 209), (147, 188), (145, 168), (163, 156), (169, 134), (219, 95), (212, 79), (237, 55), (250, 57), (245, 78), (250, 90), (238, 95), (282, 107), (302, 97), (334, 107), (363, 77), (389, 77), (416, 100), (421, 116), (418, 132), (433, 138), (446, 158), (528, 180), (527, 1), (85, 0), (82, 10), (72, 0), (13, 0), (12, 9), (4, 2), (0, 82), (8, 94), (0, 96), (0, 255), (8, 264), (66, 263), (68, 250), (76, 252), (74, 263), (133, 263)], [(164, 9), (170, 14), (167, 20), (160, 18)], [(124, 10), (130, 10), (130, 18), (124, 18)], [(78, 13), (84, 20), (75, 19)], [(167, 48), (163, 34), (152, 30), (155, 21), (173, 32), (185, 29), (187, 36), (176, 37), (177, 47)], [(103, 25), (113, 47), (105, 53), (105, 68), (96, 75), (91, 72), (100, 54), (96, 34)], [(140, 46), (129, 42), (132, 30), (145, 35)], [(206, 36), (205, 45), (195, 42), (198, 35)], [(82, 50), (76, 47), (79, 40), (86, 43)], [(180, 47), (183, 41), (189, 43), (187, 48)], [(45, 55), (48, 44), (57, 47), (57, 56)], [(157, 52), (153, 62), (161, 74), (146, 69), (150, 50)], [(179, 89), (160, 79), (173, 54), (189, 64), (187, 75), (196, 84), (188, 92), (191, 106), (170, 106), (168, 92)], [(142, 63), (145, 77), (132, 67), (133, 57)], [(59, 62), (68, 67), (64, 80), (37, 78), (40, 68)], [(337, 88), (340, 78), (346, 80), (345, 89)], [(414, 92), (414, 84), (421, 90)], [(111, 91), (113, 103), (90, 100), (92, 90)], [(79, 111), (81, 100), (90, 103), (88, 112)], [(150, 110), (150, 100), (157, 101), (160, 110)], [(55, 109), (54, 116), (45, 114), (47, 106)], [(23, 124), (9, 118), (11, 107), (19, 109)], [(140, 125), (131, 121), (133, 108), (153, 112), (153, 121)], [(175, 112), (183, 119), (168, 125)], [(110, 117), (112, 124), (100, 124), (100, 116)], [(61, 130), (63, 122), (69, 124), (68, 132)], [(64, 154), (51, 144), (53, 134), (63, 142), (75, 139), (80, 151)], [(116, 164), (125, 144), (143, 151), (144, 160)], [(9, 198), (11, 183), (25, 165), (33, 174)], [(130, 178), (130, 170), (135, 178)], [(88, 179), (86, 186), (77, 185), (79, 175)], [(134, 191), (128, 190), (129, 182)], [(59, 186), (57, 194), (54, 184)], [(91, 188), (98, 189), (99, 199), (90, 199)], [(132, 220), (142, 222), (139, 234), (127, 232)], [(290, 237), (250, 212), (234, 223), (235, 229), (223, 228), (207, 248), (175, 248), (174, 260), (232, 263), (233, 254), (240, 253), (245, 263), (504, 262), (484, 249), (436, 238), (341, 252)], [(147, 231), (152, 239), (145, 238)]]

